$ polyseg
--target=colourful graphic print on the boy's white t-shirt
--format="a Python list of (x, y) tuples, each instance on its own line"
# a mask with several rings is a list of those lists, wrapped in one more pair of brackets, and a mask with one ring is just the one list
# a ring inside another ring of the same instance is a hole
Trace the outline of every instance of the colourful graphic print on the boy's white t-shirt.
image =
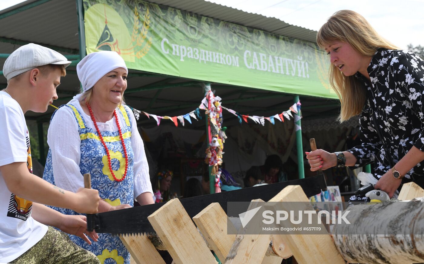
[[(28, 130), (25, 136), (25, 141), (27, 145), (27, 154), (28, 154), (27, 167), (28, 167), (28, 171), (32, 173), (31, 146), (29, 143)], [(18, 219), (22, 219), (26, 221), (31, 214), (31, 210), (32, 210), (31, 201), (21, 198), (17, 195), (14, 195), (13, 193), (11, 194), (9, 207), (7, 209), (8, 217), (14, 217), (14, 218), (18, 218)]]

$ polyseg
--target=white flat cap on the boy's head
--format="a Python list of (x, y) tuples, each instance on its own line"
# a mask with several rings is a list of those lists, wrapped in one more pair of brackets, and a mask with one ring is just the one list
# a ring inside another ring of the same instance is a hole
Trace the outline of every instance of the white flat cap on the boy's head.
[(55, 50), (33, 43), (26, 44), (8, 56), (3, 66), (3, 75), (9, 81), (16, 75), (47, 64), (68, 67), (71, 62)]

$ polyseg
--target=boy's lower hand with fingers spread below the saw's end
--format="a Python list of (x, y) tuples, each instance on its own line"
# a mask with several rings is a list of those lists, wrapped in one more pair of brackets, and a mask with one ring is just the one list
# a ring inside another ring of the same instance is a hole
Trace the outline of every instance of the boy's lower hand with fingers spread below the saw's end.
[(64, 215), (61, 225), (58, 227), (61, 231), (79, 236), (84, 239), (89, 245), (91, 245), (90, 239), (86, 234), (96, 242), (99, 238), (98, 234), (95, 231), (87, 231), (87, 217), (84, 215)]

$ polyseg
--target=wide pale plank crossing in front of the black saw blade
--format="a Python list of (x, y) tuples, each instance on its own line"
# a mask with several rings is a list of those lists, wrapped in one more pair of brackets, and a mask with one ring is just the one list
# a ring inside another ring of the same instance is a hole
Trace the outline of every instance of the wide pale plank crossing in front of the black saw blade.
[(216, 264), (215, 257), (178, 198), (156, 210), (148, 220), (176, 264)]

